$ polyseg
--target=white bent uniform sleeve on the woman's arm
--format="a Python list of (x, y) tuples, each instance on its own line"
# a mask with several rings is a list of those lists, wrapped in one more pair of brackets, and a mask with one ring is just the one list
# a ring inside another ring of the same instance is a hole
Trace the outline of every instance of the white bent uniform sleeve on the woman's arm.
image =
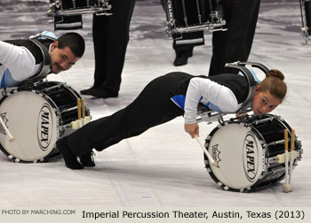
[(235, 112), (241, 107), (230, 88), (209, 79), (195, 77), (187, 87), (184, 114), (186, 124), (196, 122), (197, 105), (201, 97), (203, 101), (217, 105), (222, 112)]

